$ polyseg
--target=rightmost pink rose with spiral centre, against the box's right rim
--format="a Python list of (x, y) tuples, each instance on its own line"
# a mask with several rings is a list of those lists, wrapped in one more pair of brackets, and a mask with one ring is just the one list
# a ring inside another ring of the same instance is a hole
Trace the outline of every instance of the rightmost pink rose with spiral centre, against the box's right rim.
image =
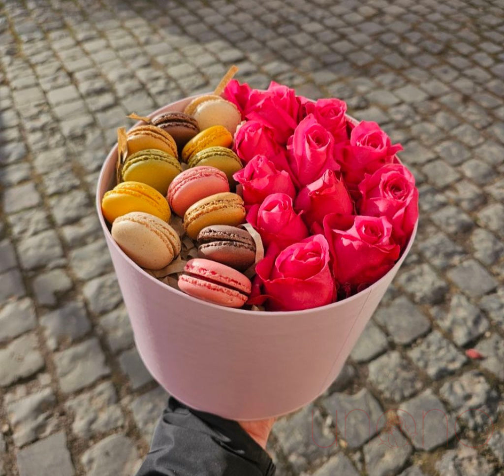
[(418, 219), (418, 190), (413, 174), (402, 164), (387, 164), (366, 175), (359, 190), (359, 212), (387, 217), (394, 241), (403, 247)]

